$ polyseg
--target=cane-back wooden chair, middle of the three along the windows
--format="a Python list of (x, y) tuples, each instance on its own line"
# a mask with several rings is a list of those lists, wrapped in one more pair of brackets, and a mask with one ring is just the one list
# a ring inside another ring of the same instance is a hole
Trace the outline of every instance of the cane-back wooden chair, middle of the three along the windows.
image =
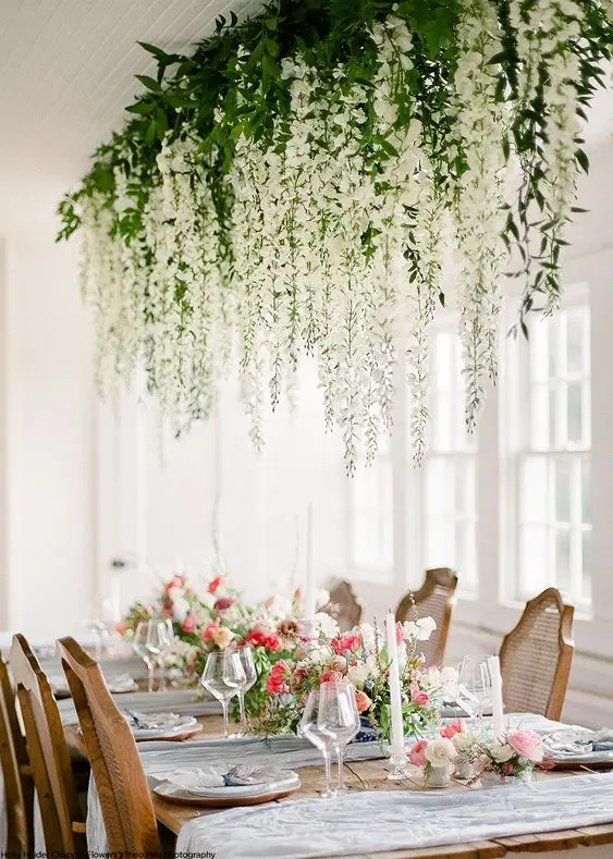
[(456, 587), (457, 576), (449, 567), (427, 569), (424, 585), (403, 597), (396, 609), (400, 623), (427, 616), (436, 621), (437, 628), (428, 641), (419, 642), (426, 665), (440, 665), (444, 659)]

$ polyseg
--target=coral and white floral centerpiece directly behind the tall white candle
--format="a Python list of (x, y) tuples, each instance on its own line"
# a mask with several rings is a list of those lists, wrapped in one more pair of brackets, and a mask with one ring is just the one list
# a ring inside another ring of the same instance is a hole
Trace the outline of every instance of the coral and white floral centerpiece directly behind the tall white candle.
[[(419, 651), (419, 642), (434, 628), (431, 617), (396, 626), (404, 727), (413, 736), (436, 727), (443, 699), (455, 695), (455, 670), (426, 668)], [(270, 734), (295, 732), (308, 694), (321, 683), (344, 677), (355, 687), (363, 722), (389, 737), (388, 670), (387, 647), (376, 624), (340, 633), (333, 618), (316, 615), (316, 638), (302, 640), (292, 660), (280, 659), (272, 665), (267, 682), (270, 699), (257, 727)]]

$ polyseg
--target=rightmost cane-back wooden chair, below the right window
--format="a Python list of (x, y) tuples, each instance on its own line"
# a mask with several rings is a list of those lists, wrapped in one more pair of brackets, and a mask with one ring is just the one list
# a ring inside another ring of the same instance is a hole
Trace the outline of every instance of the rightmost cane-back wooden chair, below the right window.
[(508, 712), (560, 719), (575, 652), (574, 613), (555, 588), (526, 603), (500, 649), (502, 697)]

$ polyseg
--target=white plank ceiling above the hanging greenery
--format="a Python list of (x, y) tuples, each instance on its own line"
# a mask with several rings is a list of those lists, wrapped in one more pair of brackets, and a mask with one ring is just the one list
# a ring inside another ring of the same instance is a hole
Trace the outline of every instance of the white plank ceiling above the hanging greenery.
[[(0, 0), (0, 164), (66, 181), (126, 115), (155, 62), (137, 40), (188, 51), (230, 8), (260, 0)], [(613, 133), (613, 98), (597, 99), (590, 146)]]

